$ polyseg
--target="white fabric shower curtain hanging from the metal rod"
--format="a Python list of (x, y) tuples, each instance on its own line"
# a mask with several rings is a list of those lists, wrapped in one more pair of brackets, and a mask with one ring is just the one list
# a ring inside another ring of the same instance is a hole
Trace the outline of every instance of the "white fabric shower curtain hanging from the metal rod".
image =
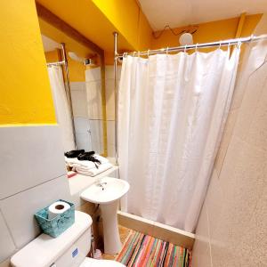
[(194, 231), (239, 62), (233, 53), (124, 58), (118, 100), (122, 210)]

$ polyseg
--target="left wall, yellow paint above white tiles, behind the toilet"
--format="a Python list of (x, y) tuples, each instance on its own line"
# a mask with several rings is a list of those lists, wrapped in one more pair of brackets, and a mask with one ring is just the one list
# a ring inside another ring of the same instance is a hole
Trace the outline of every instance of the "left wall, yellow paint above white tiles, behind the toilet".
[(0, 266), (5, 267), (39, 234), (34, 213), (68, 199), (69, 184), (35, 1), (2, 1), (0, 15)]

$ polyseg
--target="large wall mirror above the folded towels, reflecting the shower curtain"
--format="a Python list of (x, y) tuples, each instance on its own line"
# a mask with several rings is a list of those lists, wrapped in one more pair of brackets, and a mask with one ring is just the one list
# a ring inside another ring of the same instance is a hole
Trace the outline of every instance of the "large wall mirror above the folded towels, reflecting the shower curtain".
[(68, 25), (58, 27), (64, 21), (37, 12), (64, 151), (93, 150), (107, 157), (104, 54)]

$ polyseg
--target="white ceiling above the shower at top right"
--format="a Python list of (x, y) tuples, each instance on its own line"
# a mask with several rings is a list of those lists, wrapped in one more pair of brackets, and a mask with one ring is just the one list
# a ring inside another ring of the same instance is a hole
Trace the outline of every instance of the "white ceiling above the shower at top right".
[(267, 0), (139, 0), (153, 30), (267, 12)]

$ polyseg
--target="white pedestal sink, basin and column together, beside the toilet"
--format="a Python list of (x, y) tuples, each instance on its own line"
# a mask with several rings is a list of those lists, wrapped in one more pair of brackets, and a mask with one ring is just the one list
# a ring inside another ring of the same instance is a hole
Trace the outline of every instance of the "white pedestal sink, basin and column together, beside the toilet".
[(117, 206), (119, 198), (122, 198), (129, 188), (129, 183), (124, 180), (104, 177), (81, 194), (84, 200), (100, 204), (105, 254), (114, 255), (121, 250), (122, 244), (117, 227)]

